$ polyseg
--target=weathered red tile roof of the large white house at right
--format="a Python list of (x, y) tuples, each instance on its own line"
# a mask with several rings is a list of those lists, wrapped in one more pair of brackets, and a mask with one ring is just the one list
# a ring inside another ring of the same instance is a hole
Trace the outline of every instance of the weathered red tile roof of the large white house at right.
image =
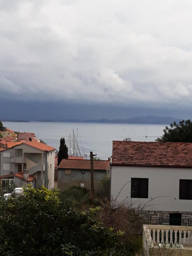
[(192, 167), (192, 143), (113, 141), (112, 165)]

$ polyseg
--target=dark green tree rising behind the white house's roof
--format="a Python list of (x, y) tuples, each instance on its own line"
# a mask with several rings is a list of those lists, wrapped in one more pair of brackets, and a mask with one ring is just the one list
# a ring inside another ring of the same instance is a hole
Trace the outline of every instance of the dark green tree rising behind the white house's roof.
[(164, 134), (157, 138), (157, 142), (192, 142), (192, 122), (182, 120), (177, 124), (173, 122), (170, 127), (166, 126)]

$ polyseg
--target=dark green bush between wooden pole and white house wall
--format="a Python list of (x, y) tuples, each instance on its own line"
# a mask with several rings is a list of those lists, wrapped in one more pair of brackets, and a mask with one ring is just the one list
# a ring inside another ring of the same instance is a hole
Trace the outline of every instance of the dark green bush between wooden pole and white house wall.
[(98, 188), (95, 191), (95, 195), (100, 198), (107, 198), (110, 200), (110, 194), (111, 194), (111, 179), (108, 176), (105, 176)]

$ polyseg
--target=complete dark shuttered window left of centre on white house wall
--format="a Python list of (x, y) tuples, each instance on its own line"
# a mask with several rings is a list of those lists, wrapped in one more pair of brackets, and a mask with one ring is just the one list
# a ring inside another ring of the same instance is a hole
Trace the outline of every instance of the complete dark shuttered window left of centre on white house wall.
[(146, 178), (131, 178), (132, 198), (148, 198), (148, 180)]

